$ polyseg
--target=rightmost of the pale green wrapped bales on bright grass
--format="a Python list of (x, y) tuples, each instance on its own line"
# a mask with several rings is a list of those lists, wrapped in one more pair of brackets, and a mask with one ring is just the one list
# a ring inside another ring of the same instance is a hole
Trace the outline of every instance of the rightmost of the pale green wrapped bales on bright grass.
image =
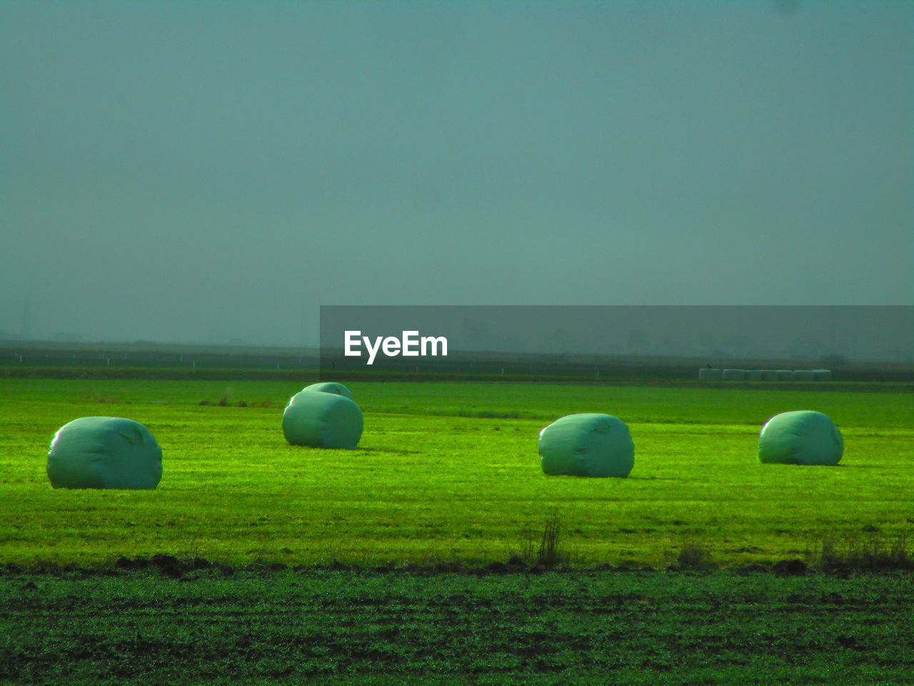
[(832, 418), (812, 410), (776, 414), (759, 434), (759, 462), (765, 465), (837, 465), (844, 452)]

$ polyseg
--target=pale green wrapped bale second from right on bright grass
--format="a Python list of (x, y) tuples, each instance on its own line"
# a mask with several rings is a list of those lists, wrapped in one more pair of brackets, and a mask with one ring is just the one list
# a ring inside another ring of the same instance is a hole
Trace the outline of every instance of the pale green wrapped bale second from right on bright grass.
[(611, 414), (569, 414), (539, 432), (539, 457), (549, 476), (627, 477), (634, 466), (628, 426)]

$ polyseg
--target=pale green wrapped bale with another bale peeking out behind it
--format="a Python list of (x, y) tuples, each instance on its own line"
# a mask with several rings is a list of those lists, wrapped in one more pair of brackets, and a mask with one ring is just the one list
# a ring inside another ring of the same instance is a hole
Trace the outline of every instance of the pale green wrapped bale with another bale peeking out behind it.
[(363, 427), (358, 405), (336, 393), (299, 391), (282, 412), (282, 434), (292, 445), (352, 449)]

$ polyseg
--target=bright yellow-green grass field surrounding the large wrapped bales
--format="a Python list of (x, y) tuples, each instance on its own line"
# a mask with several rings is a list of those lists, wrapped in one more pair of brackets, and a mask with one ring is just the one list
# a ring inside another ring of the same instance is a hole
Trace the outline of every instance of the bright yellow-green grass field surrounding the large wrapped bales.
[[(555, 513), (581, 566), (663, 566), (689, 541), (733, 565), (914, 529), (910, 393), (353, 383), (366, 431), (358, 450), (331, 451), (283, 440), (282, 407), (302, 385), (0, 380), (0, 562), (91, 565), (165, 552), (473, 565), (517, 554)], [(223, 396), (228, 406), (199, 404)], [(761, 424), (798, 409), (839, 425), (841, 466), (758, 464)], [(578, 412), (629, 424), (631, 477), (542, 474), (539, 430)], [(164, 452), (159, 488), (50, 488), (54, 432), (97, 414), (151, 429)]]

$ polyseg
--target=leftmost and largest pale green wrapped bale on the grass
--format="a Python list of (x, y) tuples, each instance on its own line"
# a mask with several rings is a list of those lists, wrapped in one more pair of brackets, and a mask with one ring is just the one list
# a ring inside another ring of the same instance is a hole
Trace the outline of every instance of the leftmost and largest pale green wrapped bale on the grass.
[(155, 488), (162, 448), (132, 419), (80, 417), (54, 434), (48, 478), (54, 488)]

